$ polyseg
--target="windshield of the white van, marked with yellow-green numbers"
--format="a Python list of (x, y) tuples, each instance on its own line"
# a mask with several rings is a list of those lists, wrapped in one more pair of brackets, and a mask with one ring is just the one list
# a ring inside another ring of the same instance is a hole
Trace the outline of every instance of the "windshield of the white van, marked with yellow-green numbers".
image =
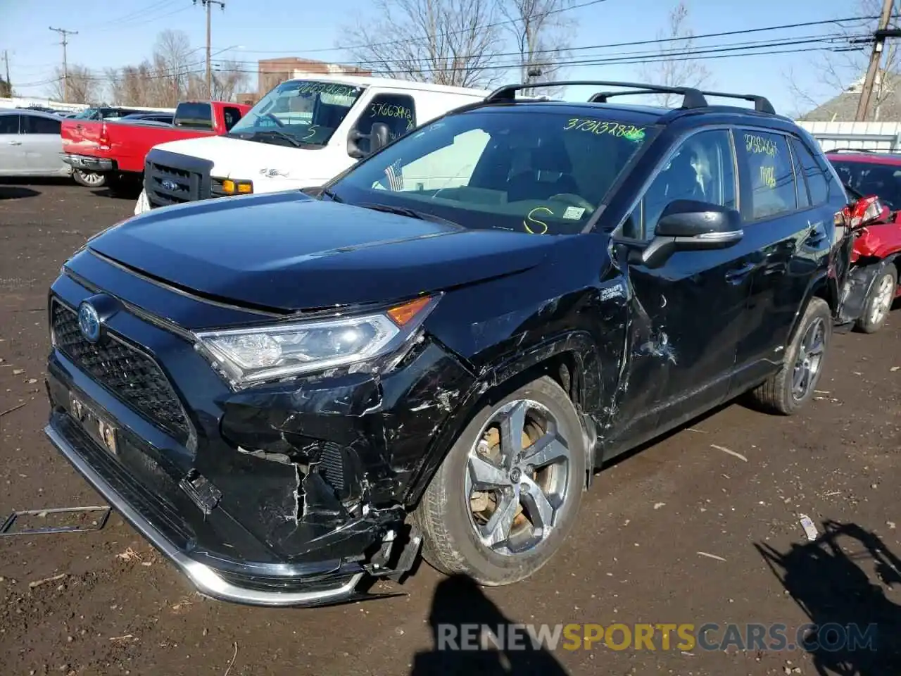
[(362, 93), (363, 87), (335, 82), (284, 82), (259, 99), (228, 135), (248, 141), (323, 146)]

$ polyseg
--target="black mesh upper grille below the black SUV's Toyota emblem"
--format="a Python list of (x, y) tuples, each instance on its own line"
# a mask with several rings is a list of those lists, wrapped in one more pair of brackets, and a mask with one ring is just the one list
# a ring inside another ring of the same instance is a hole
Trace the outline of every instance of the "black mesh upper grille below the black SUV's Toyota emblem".
[(88, 343), (77, 313), (57, 301), (50, 308), (50, 325), (56, 348), (80, 370), (181, 443), (187, 441), (187, 418), (156, 361), (109, 331), (104, 341)]

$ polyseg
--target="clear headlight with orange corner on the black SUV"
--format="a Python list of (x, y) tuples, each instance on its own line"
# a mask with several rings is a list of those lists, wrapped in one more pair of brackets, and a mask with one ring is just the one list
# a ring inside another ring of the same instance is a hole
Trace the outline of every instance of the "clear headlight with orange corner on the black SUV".
[(370, 315), (196, 333), (236, 382), (249, 384), (350, 366), (396, 351), (438, 302), (420, 297)]

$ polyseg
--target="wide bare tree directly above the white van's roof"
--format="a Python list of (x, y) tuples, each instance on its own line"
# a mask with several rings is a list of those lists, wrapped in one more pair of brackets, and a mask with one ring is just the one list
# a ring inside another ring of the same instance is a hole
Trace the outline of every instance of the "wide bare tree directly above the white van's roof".
[(393, 78), (487, 87), (501, 75), (497, 7), (488, 0), (375, 0), (374, 21), (344, 29), (339, 44), (364, 69)]

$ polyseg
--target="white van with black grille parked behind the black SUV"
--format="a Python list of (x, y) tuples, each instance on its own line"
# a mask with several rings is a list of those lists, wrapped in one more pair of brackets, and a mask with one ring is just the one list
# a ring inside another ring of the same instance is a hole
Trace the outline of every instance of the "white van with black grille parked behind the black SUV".
[(227, 134), (153, 147), (134, 213), (208, 197), (322, 185), (397, 136), (488, 94), (345, 75), (287, 80)]

